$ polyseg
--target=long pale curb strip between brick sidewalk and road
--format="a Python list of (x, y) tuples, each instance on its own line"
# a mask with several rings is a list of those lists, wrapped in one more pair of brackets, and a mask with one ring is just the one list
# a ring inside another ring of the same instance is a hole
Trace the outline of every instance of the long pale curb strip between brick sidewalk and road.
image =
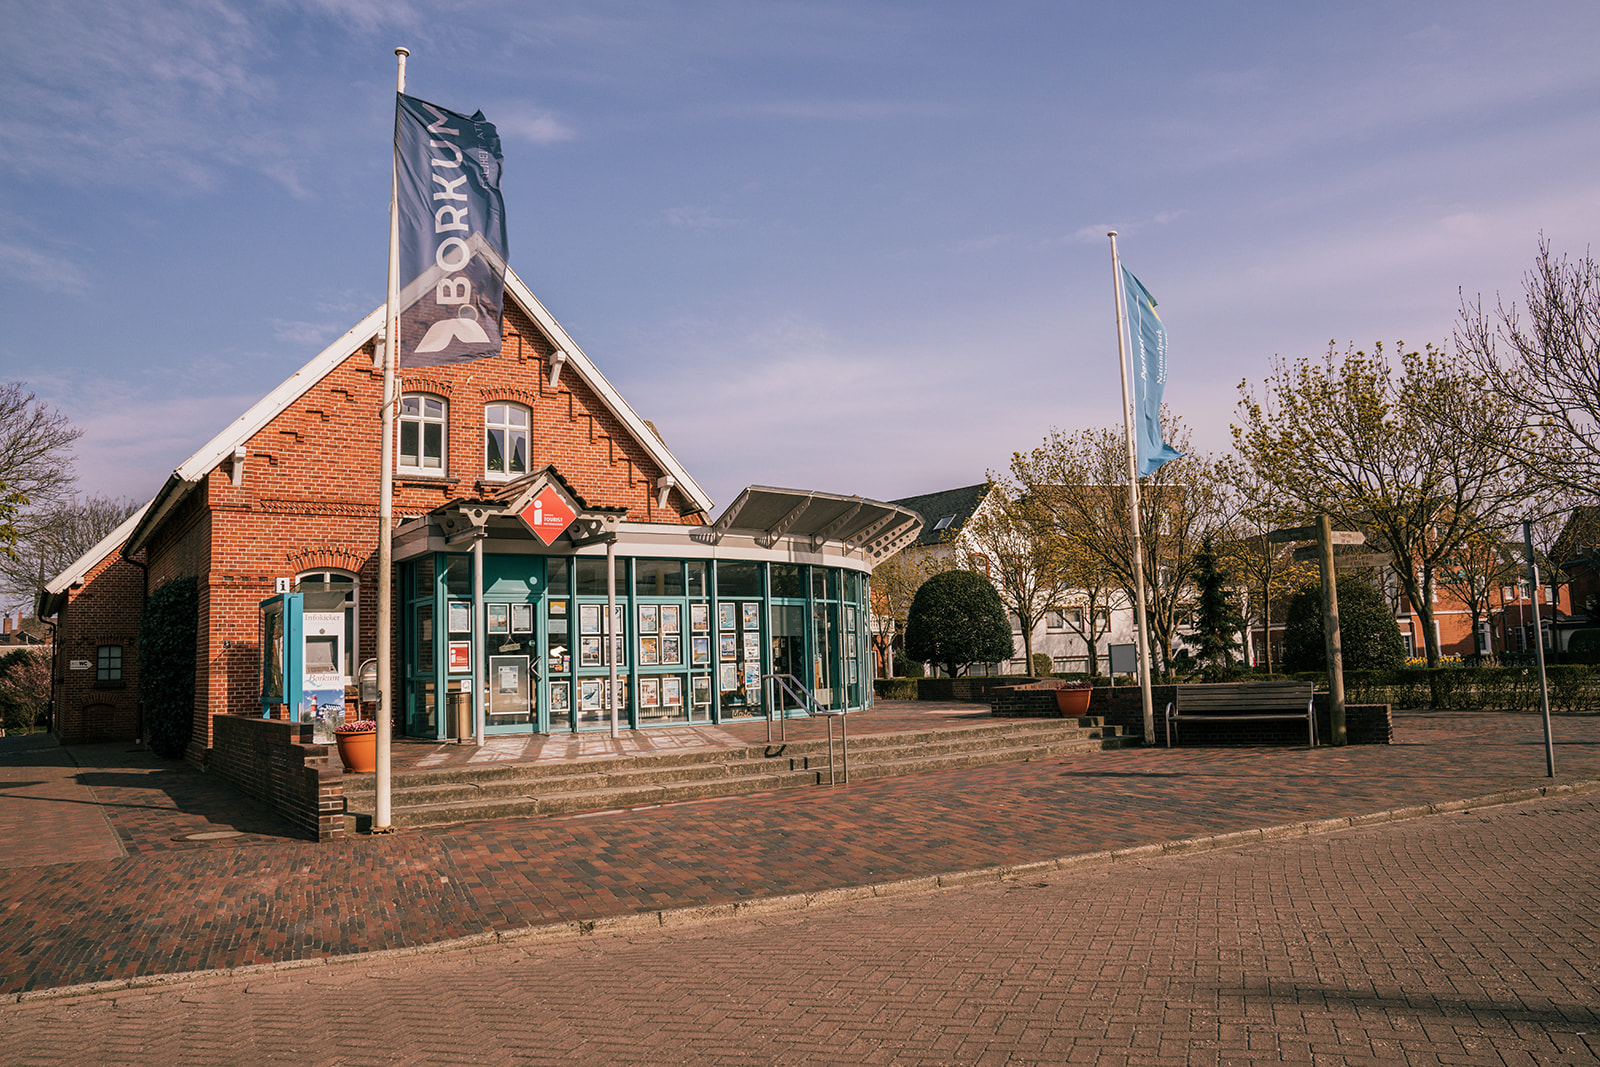
[(899, 881), (883, 881), (875, 885), (840, 886), (821, 889), (818, 893), (794, 893), (755, 901), (738, 901), (733, 904), (696, 904), (682, 909), (659, 909), (637, 912), (632, 915), (611, 915), (594, 920), (563, 920), (541, 926), (523, 926), (518, 929), (496, 929), (466, 937), (451, 937), (426, 945), (403, 945), (398, 949), (376, 949), (371, 952), (354, 952), (338, 957), (317, 957), (310, 960), (280, 960), (275, 963), (254, 963), (237, 968), (218, 968), (210, 971), (176, 971), (170, 974), (141, 974), (126, 979), (109, 979), (104, 982), (83, 982), (78, 985), (58, 985), (53, 989), (24, 990), (6, 993), (0, 1005), (27, 1005), (43, 1000), (69, 1000), (74, 997), (94, 997), (102, 993), (141, 992), (171, 985), (203, 985), (230, 977), (251, 977), (266, 974), (282, 974), (288, 971), (304, 971), (310, 968), (331, 966), (334, 963), (381, 963), (384, 960), (402, 960), (422, 953), (459, 952), (462, 949), (478, 949), (490, 945), (533, 945), (552, 941), (576, 937), (592, 937), (600, 934), (637, 934), (659, 931), (662, 928), (685, 929), (690, 926), (710, 925), (728, 918), (747, 918), (754, 915), (798, 912), (811, 907), (827, 907), (832, 904), (848, 904), (854, 901), (912, 896), (920, 893), (936, 893), (971, 885), (990, 885), (1030, 878), (1042, 873), (1077, 870), (1082, 867), (1126, 862), (1130, 859), (1149, 859), (1157, 856), (1186, 856), (1202, 851), (1221, 851), (1262, 841), (1282, 840), (1288, 837), (1309, 837), (1314, 833), (1333, 833), (1347, 829), (1382, 825), (1427, 816), (1456, 814), (1475, 808), (1496, 808), (1523, 803), (1528, 800), (1546, 800), (1570, 797), (1600, 790), (1600, 779), (1581, 779), (1552, 785), (1534, 785), (1528, 789), (1507, 789), (1480, 797), (1462, 800), (1442, 800), (1427, 805), (1408, 805), (1389, 808), (1360, 816), (1336, 819), (1317, 819), (1307, 822), (1290, 822), (1256, 830), (1232, 830), (1210, 837), (1178, 838), (1173, 841), (1136, 845), (1120, 849), (1101, 849), (1094, 853), (1077, 853), (1054, 859), (1032, 861), (1026, 864), (1002, 867), (978, 867), (973, 870), (957, 870), (939, 875), (922, 875)]

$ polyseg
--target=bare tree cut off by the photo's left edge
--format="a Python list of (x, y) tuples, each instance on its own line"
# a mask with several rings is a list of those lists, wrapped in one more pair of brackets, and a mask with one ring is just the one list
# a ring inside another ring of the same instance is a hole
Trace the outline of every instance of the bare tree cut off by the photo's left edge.
[(70, 446), (82, 434), (26, 384), (0, 384), (0, 597), (10, 606), (34, 598), (35, 542), (72, 485)]

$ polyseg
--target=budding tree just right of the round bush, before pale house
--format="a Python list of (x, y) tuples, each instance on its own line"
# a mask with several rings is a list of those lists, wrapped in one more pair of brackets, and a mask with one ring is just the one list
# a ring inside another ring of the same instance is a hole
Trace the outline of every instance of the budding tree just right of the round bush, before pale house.
[(984, 504), (962, 525), (962, 539), (974, 553), (966, 569), (981, 569), (994, 582), (1000, 603), (1022, 627), (1022, 656), (1032, 664), (1034, 627), (1066, 593), (1064, 552), (1050, 514), (1038, 501), (990, 480)]

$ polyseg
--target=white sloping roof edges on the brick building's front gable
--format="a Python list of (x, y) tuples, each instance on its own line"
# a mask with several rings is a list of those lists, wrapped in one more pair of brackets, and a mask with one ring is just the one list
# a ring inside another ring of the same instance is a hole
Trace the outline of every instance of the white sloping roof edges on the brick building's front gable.
[[(638, 443), (650, 453), (650, 458), (672, 477), (677, 483), (680, 493), (690, 501), (698, 510), (710, 512), (712, 499), (704, 490), (690, 477), (677, 458), (667, 450), (661, 442), (661, 437), (654, 434), (645, 421), (638, 418), (638, 413), (626, 400), (622, 394), (606, 381), (605, 374), (584, 355), (584, 350), (578, 347), (562, 325), (555, 322), (539, 298), (533, 294), (531, 290), (523, 283), (522, 278), (510, 269), (506, 270), (506, 291), (522, 306), (530, 318), (544, 331), (544, 334), (555, 344), (557, 349), (566, 354), (566, 365), (562, 371), (563, 374), (576, 373), (589, 389), (600, 398), (600, 402), (614, 414), (622, 426), (638, 440)], [(189, 493), (200, 485), (205, 477), (218, 467), (224, 459), (234, 454), (234, 450), (248, 442), (251, 437), (261, 432), (272, 419), (280, 416), (291, 403), (299, 400), (306, 392), (326, 378), (336, 366), (344, 363), (347, 358), (360, 352), (362, 346), (378, 336), (384, 325), (384, 306), (379, 304), (366, 318), (352, 326), (344, 336), (323, 349), (317, 357), (314, 357), (306, 366), (299, 368), (290, 378), (269, 392), (266, 397), (258, 400), (245, 414), (238, 416), (224, 429), (221, 434), (213, 437), (210, 442), (200, 446), (200, 450), (186, 459), (182, 464), (173, 470), (171, 477), (155, 494), (155, 499), (146, 506), (146, 512), (141, 512), (144, 518), (131, 530), (128, 534), (125, 552), (133, 553), (144, 547), (149, 536), (160, 526), (162, 520), (171, 514), (178, 504), (182, 502)]]

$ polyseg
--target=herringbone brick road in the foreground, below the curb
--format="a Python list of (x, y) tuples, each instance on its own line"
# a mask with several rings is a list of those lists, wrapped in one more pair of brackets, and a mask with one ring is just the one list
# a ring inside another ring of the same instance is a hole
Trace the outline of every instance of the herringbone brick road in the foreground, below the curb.
[(1587, 1064), (1600, 793), (0, 1008), (8, 1064)]

